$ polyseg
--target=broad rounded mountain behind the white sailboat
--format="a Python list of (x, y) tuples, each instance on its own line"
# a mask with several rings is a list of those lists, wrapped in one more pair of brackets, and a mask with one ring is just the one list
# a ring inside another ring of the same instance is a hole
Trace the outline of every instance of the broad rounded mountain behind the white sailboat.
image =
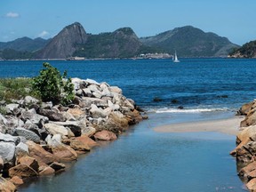
[(205, 33), (191, 26), (174, 28), (156, 36), (142, 37), (140, 42), (169, 53), (176, 50), (180, 57), (226, 57), (228, 52), (238, 47), (226, 37)]

